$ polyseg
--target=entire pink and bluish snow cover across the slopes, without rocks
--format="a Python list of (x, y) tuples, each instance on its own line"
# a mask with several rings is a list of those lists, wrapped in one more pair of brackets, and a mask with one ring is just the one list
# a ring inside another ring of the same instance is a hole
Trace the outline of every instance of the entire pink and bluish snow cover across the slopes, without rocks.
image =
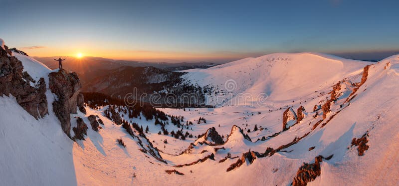
[[(13, 55), (34, 79), (44, 77), (48, 86), (47, 75), (51, 71), (46, 66), (28, 56)], [(354, 90), (348, 81), (360, 82), (366, 65), (371, 65), (367, 80), (358, 88), (356, 96), (346, 101)], [(14, 97), (3, 95), (0, 97), (1, 185), (286, 186), (292, 183), (303, 162), (312, 163), (318, 155), (333, 157), (323, 160), (321, 175), (309, 185), (398, 185), (399, 55), (369, 63), (314, 53), (279, 53), (188, 72), (186, 77), (193, 83), (218, 85), (220, 89), (224, 89), (224, 81), (234, 79), (237, 86), (229, 92), (235, 95), (266, 92), (269, 95), (264, 100), (266, 106), (220, 104), (216, 108), (186, 108), (185, 111), (160, 109), (167, 114), (184, 116), (184, 124), (194, 123), (183, 132), (198, 136), (215, 127), (226, 142), (219, 146), (197, 144), (190, 153), (183, 152), (197, 138), (183, 141), (171, 135), (158, 135), (161, 127), (154, 125), (154, 119), (146, 121), (144, 116), (142, 120), (131, 119), (125, 114), (125, 120), (149, 127), (145, 135), (162, 151), (161, 156), (168, 163), (165, 164), (140, 151), (137, 139), (104, 117), (107, 107), (98, 110), (86, 107), (87, 114), (78, 111), (71, 115), (72, 126), (76, 125), (75, 117), (81, 117), (88, 125), (86, 140), (73, 142), (62, 132), (52, 111), (55, 97), (48, 89), (49, 114), (39, 120), (24, 111)], [(342, 80), (346, 83), (341, 84), (331, 111), (314, 128), (323, 117), (320, 110), (313, 112), (314, 105), (323, 105), (330, 98), (332, 87)], [(212, 103), (210, 98), (208, 101)], [(306, 109), (304, 119), (281, 132), (284, 110), (291, 107), (296, 111), (301, 105)], [(104, 122), (98, 132), (91, 129), (87, 119), (91, 114)], [(197, 124), (200, 117), (205, 118), (206, 123)], [(231, 130), (233, 125), (240, 127), (244, 135), (248, 134), (252, 142), (246, 140), (238, 128)], [(257, 131), (254, 131), (255, 125)], [(179, 130), (173, 124), (166, 125), (166, 129)], [(276, 133), (278, 135), (269, 137)], [(364, 156), (359, 156), (351, 142), (365, 133), (369, 135), (369, 149)], [(138, 135), (137, 131), (135, 134)], [(258, 140), (262, 137), (265, 140)], [(226, 172), (249, 149), (264, 153), (268, 147), (278, 149), (300, 137), (303, 138), (296, 144), (272, 156), (256, 158), (252, 164), (247, 161)], [(117, 143), (118, 138), (125, 142), (126, 148)], [(165, 139), (167, 144), (163, 143)], [(310, 147), (315, 148), (309, 151)], [(228, 153), (231, 158), (238, 158), (219, 163)], [(211, 154), (214, 160), (199, 161)], [(184, 175), (170, 175), (166, 170), (177, 170)]]

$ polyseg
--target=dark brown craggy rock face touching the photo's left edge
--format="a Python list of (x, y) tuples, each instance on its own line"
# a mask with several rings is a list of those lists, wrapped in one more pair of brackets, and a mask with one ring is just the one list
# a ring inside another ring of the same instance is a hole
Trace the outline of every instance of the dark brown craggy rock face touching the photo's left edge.
[(18, 104), (30, 115), (38, 119), (48, 112), (46, 83), (40, 78), (35, 87), (29, 82), (36, 83), (27, 72), (22, 72), (22, 62), (14, 56), (7, 56), (11, 51), (0, 47), (0, 95), (9, 94), (16, 97)]

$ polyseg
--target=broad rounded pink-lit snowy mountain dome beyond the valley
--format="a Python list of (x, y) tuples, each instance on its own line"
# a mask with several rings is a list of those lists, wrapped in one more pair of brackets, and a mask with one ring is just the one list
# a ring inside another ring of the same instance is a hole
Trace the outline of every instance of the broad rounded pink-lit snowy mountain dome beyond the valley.
[[(207, 105), (253, 105), (267, 94), (275, 102), (298, 99), (319, 91), (342, 77), (359, 73), (370, 62), (319, 53), (275, 53), (245, 58), (184, 75), (199, 86), (213, 85), (225, 95), (209, 96)], [(249, 95), (240, 101), (237, 95)], [(227, 99), (223, 102), (224, 99)]]

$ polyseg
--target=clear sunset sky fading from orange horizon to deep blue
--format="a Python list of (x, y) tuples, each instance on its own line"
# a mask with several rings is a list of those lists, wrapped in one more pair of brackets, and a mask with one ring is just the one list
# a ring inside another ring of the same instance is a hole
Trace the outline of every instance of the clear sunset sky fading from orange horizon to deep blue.
[(226, 62), (274, 52), (399, 54), (398, 0), (0, 0), (0, 38), (32, 56)]

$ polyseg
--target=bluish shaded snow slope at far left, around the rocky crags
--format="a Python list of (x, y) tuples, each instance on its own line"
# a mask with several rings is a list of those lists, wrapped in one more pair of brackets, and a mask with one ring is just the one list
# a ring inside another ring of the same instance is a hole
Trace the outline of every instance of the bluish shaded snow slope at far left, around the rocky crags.
[(0, 97), (1, 185), (75, 185), (73, 143), (62, 132), (52, 109), (55, 98), (48, 89), (51, 70), (31, 57), (16, 52), (12, 55), (34, 80), (45, 79), (49, 114), (36, 120), (15, 97)]

